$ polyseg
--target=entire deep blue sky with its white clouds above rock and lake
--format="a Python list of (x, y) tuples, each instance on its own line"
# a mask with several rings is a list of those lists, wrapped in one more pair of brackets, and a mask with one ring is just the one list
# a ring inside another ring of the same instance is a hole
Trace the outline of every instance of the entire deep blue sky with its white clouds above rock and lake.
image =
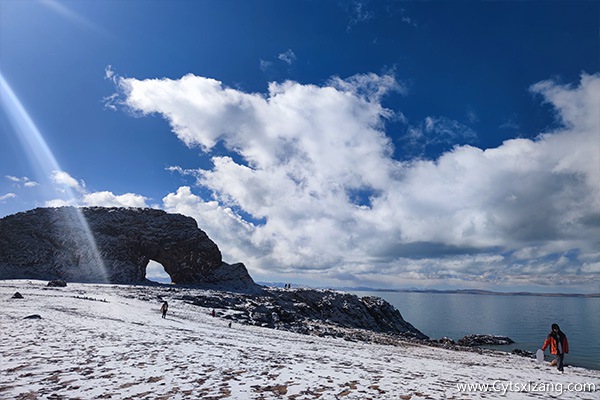
[(599, 18), (0, 0), (0, 217), (179, 212), (259, 281), (599, 292)]

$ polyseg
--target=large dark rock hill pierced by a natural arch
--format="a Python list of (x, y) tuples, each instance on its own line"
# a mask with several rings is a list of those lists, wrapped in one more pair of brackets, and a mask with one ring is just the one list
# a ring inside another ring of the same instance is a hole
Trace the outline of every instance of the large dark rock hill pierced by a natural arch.
[(142, 283), (150, 260), (178, 284), (256, 286), (243, 264), (223, 263), (217, 245), (183, 215), (61, 207), (0, 219), (0, 279)]

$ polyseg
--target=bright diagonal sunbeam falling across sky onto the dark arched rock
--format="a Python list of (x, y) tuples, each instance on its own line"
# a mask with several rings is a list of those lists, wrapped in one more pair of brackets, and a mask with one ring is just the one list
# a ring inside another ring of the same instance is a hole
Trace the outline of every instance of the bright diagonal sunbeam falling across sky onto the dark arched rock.
[[(2, 108), (5, 110), (12, 127), (14, 128), (14, 134), (19, 139), (19, 142), (23, 146), (23, 150), (32, 166), (40, 174), (40, 176), (49, 177), (51, 174), (63, 172), (56, 157), (50, 150), (48, 143), (42, 136), (31, 116), (23, 107), (23, 104), (13, 92), (12, 88), (4, 78), (4, 75), (0, 72), (0, 101)], [(77, 197), (73, 193), (71, 187), (65, 187), (65, 193), (68, 196), (68, 203), (75, 206), (78, 205)], [(74, 230), (82, 230), (84, 233), (85, 242), (83, 246), (86, 248), (78, 249), (84, 254), (90, 254), (91, 260), (89, 261), (90, 267), (97, 271), (99, 279), (103, 282), (108, 282), (108, 275), (106, 272), (106, 266), (104, 260), (98, 251), (98, 246), (94, 239), (94, 236), (90, 230), (90, 227), (85, 220), (85, 217), (80, 208), (74, 207), (76, 212), (76, 222), (79, 226), (73, 227)], [(86, 251), (87, 250), (87, 251)]]

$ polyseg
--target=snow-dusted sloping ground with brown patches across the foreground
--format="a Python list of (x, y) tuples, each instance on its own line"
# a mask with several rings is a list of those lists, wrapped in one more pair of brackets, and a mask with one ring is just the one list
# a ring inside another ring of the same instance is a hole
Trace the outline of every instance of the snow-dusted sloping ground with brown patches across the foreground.
[[(23, 299), (12, 299), (15, 292)], [(504, 353), (229, 327), (169, 293), (0, 281), (0, 398), (600, 398), (600, 371), (567, 367), (560, 374)], [(169, 301), (166, 319), (162, 299)], [(24, 319), (32, 314), (41, 319)], [(482, 386), (460, 390), (469, 384)], [(594, 385), (598, 391), (590, 391)]]

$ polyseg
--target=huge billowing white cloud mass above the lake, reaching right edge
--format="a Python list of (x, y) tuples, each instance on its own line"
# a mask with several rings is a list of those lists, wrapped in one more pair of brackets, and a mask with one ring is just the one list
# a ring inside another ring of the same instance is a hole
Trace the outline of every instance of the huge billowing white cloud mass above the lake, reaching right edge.
[[(563, 122), (554, 132), (404, 162), (385, 132), (395, 112), (382, 98), (402, 91), (392, 76), (271, 83), (267, 93), (194, 75), (118, 85), (123, 104), (162, 115), (188, 146), (211, 153), (222, 142), (236, 154), (213, 154), (212, 168), (193, 171), (210, 201), (189, 187), (163, 201), (259, 276), (319, 273), (379, 285), (597, 277), (599, 75), (531, 87)], [(422, 130), (474, 137), (443, 117)]]

